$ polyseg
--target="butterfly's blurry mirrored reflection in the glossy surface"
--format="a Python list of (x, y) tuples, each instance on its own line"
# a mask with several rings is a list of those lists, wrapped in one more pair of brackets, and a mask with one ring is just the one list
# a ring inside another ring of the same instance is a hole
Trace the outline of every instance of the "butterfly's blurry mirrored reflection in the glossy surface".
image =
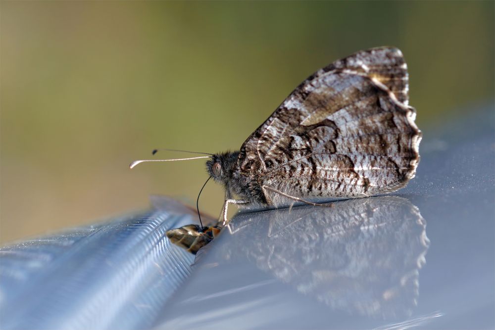
[(418, 208), (397, 196), (334, 205), (241, 214), (229, 224), (235, 237), (224, 256), (247, 257), (334, 310), (410, 315), (429, 246)]

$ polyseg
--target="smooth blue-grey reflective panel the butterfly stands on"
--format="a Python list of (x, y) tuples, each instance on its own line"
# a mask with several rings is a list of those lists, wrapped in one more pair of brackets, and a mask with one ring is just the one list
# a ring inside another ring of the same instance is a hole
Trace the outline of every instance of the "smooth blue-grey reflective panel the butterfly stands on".
[(494, 329), (494, 107), (424, 131), (395, 196), (241, 214), (159, 329)]

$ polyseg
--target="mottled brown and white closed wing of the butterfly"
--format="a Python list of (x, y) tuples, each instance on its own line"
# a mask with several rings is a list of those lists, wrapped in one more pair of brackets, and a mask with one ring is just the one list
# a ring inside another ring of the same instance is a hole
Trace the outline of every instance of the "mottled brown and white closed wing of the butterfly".
[(414, 119), (400, 50), (360, 51), (302, 82), (244, 142), (238, 165), (296, 196), (394, 191), (419, 162)]

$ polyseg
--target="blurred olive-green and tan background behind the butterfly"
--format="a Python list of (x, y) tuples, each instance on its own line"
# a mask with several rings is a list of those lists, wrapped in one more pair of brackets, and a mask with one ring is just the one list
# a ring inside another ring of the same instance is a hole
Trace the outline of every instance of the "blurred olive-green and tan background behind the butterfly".
[[(150, 194), (194, 205), (203, 160), (129, 163), (238, 149), (303, 79), (360, 49), (403, 51), (420, 128), (494, 97), (494, 1), (1, 1), (0, 15), (2, 243)], [(222, 202), (208, 184), (200, 208)]]

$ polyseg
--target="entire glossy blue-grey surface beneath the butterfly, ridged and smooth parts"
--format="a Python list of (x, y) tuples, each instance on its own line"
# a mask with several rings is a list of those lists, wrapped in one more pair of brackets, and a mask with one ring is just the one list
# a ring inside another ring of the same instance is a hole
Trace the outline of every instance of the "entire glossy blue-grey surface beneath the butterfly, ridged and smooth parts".
[(494, 329), (494, 122), (424, 130), (396, 194), (239, 214), (193, 267), (172, 199), (2, 247), (0, 328)]

